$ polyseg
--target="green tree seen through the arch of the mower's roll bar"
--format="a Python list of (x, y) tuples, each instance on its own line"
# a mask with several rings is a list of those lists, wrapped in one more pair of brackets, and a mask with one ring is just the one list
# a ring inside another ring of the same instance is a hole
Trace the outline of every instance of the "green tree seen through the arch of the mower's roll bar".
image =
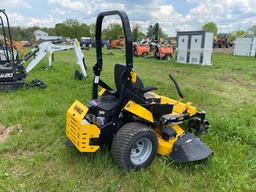
[(123, 28), (118, 23), (111, 23), (103, 30), (102, 35), (104, 39), (118, 39), (124, 36)]

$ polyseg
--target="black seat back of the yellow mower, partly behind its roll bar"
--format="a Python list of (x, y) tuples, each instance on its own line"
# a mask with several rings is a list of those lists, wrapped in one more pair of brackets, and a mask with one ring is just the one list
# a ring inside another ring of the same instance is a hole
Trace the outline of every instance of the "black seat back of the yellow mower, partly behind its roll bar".
[[(115, 84), (116, 84), (116, 90), (117, 90), (118, 95), (120, 94), (122, 84), (124, 82), (123, 78), (125, 77), (125, 72), (126, 72), (125, 65), (122, 65), (122, 64), (115, 65), (114, 77), (115, 77)], [(144, 85), (138, 75), (136, 78), (136, 83), (133, 84), (133, 88), (141, 88), (141, 89), (144, 88)]]

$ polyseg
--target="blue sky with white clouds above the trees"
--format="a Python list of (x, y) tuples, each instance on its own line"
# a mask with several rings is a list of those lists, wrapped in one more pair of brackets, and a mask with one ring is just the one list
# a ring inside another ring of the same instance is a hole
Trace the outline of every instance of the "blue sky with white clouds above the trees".
[[(256, 24), (256, 0), (0, 0), (11, 25), (52, 27), (67, 18), (95, 23), (101, 11), (127, 12), (132, 24), (142, 31), (159, 22), (170, 36), (177, 30), (196, 30), (208, 21), (221, 32), (247, 30)], [(115, 22), (118, 18), (106, 20)], [(132, 25), (131, 24), (131, 25)]]

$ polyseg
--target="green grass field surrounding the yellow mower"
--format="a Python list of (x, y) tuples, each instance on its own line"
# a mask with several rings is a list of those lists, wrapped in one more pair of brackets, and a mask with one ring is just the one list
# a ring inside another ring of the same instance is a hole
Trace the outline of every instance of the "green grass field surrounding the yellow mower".
[[(102, 79), (113, 86), (114, 64), (125, 57), (120, 50), (111, 52), (104, 55)], [(45, 59), (29, 74), (27, 80), (44, 81), (45, 90), (0, 93), (0, 123), (21, 125), (0, 144), (0, 191), (256, 191), (255, 58), (215, 53), (209, 67), (135, 58), (144, 84), (177, 98), (171, 72), (185, 101), (207, 111), (211, 128), (202, 140), (215, 154), (181, 165), (157, 156), (147, 169), (124, 172), (106, 149), (80, 154), (64, 145), (66, 110), (75, 99), (91, 98), (95, 50), (85, 54), (84, 81), (72, 78), (76, 61), (67, 51), (56, 54), (53, 68), (41, 70)]]

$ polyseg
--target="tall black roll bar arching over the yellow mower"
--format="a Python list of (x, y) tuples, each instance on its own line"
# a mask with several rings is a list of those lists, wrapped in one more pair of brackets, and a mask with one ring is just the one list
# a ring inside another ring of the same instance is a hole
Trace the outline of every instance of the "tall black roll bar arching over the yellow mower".
[(102, 32), (102, 21), (105, 16), (110, 15), (119, 15), (122, 21), (122, 26), (124, 30), (125, 36), (125, 51), (126, 51), (126, 75), (130, 75), (130, 72), (133, 70), (133, 51), (132, 51), (132, 32), (129, 23), (129, 18), (124, 11), (107, 11), (102, 12), (98, 15), (96, 20), (96, 32), (95, 32), (95, 40), (96, 40), (96, 56), (97, 63), (93, 67), (94, 71), (94, 80), (93, 80), (93, 93), (92, 98), (96, 99), (98, 97), (98, 84), (100, 83), (100, 73), (103, 66), (102, 60), (102, 46), (101, 46), (101, 32)]

